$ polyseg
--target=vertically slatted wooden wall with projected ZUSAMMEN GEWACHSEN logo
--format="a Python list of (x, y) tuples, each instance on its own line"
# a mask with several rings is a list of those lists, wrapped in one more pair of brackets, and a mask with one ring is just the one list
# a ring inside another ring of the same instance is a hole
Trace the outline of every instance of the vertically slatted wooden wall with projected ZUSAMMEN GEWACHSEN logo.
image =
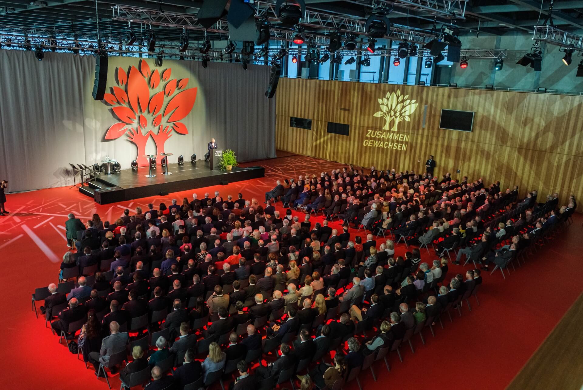
[[(393, 93), (402, 97), (396, 103), (417, 104), (396, 131), (390, 129), (394, 121), (387, 128), (385, 118), (374, 115)], [(442, 108), (475, 111), (473, 131), (440, 129)], [(281, 79), (277, 114), (278, 149), (415, 171), (434, 154), (436, 174), (500, 180), (503, 187), (519, 185), (522, 195), (537, 189), (543, 200), (554, 191), (561, 202), (575, 194), (583, 210), (582, 96)], [(312, 129), (290, 128), (290, 116), (311, 119)], [(328, 134), (328, 121), (349, 124), (350, 135)], [(371, 136), (377, 132), (396, 139)], [(378, 141), (384, 147), (367, 145)], [(389, 142), (406, 149), (389, 149)]]

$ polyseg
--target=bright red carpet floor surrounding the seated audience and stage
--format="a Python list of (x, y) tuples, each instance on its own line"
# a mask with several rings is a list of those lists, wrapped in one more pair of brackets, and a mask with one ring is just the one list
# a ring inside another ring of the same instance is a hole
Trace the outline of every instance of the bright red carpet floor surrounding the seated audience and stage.
[[(149, 202), (168, 204), (172, 198), (191, 199), (192, 192), (202, 196), (206, 191), (215, 190), (222, 196), (243, 192), (245, 199), (250, 199), (252, 194), (262, 200), (264, 192), (275, 185), (277, 178), (319, 174), (339, 166), (310, 157), (252, 163), (257, 164), (265, 166), (265, 178), (115, 205), (97, 205), (76, 189), (68, 188), (9, 194), (6, 206), (10, 216), (0, 217), (3, 264), (0, 330), (5, 337), (4, 358), (0, 361), (0, 371), (5, 373), (2, 388), (107, 388), (103, 380), (98, 381), (93, 375), (93, 370), (85, 369), (83, 361), (76, 360), (64, 344), (58, 344), (57, 336), (44, 328), (44, 319), (37, 319), (30, 310), (30, 294), (34, 289), (57, 282), (58, 265), (66, 250), (64, 223), (69, 212), (82, 220), (97, 212), (101, 219), (113, 221), (125, 208), (145, 207)], [(321, 222), (322, 217), (317, 220)], [(385, 387), (386, 384), (405, 389), (506, 387), (583, 290), (583, 285), (572, 276), (583, 252), (581, 222), (583, 217), (575, 215), (575, 223), (563, 237), (552, 240), (506, 280), (500, 273), (483, 275), (480, 306), (472, 299), (471, 312), (464, 305), (461, 318), (455, 314), (453, 323), (444, 319), (445, 329), (437, 325), (436, 338), (426, 330), (425, 346), (415, 336), (415, 354), (408, 346), (402, 347), (403, 363), (396, 354), (391, 354), (391, 373), (387, 373), (382, 362), (375, 363), (377, 382), (367, 371), (360, 375), (362, 387)], [(396, 250), (402, 254), (405, 247), (399, 245)], [(423, 261), (434, 259), (426, 251), (422, 257)], [(462, 266), (450, 267), (453, 272), (463, 272)], [(10, 381), (14, 382), (9, 384)], [(110, 378), (110, 382), (113, 388), (119, 388), (118, 375)], [(345, 388), (357, 389), (356, 382)]]

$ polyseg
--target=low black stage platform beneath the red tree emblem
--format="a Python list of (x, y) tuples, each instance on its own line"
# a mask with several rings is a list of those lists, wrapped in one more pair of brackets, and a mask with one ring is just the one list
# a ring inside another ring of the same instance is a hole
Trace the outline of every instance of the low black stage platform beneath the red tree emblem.
[(196, 164), (186, 161), (184, 165), (170, 164), (168, 172), (172, 174), (163, 175), (162, 172), (164, 169), (157, 166), (153, 171), (156, 177), (152, 178), (145, 176), (148, 174), (147, 167), (137, 171), (126, 169), (111, 175), (92, 175), (89, 188), (81, 187), (79, 192), (91, 196), (100, 205), (105, 205), (265, 176), (264, 167), (235, 167), (232, 171), (220, 171), (211, 170), (209, 163), (205, 161), (198, 161)]

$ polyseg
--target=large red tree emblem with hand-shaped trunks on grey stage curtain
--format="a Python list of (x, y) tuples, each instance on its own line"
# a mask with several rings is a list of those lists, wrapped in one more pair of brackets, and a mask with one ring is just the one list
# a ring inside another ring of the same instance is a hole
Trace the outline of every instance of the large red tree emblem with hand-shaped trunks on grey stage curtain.
[[(188, 134), (186, 125), (179, 122), (192, 110), (196, 100), (196, 88), (185, 89), (188, 79), (170, 79), (171, 69), (158, 72), (150, 70), (143, 59), (139, 70), (129, 68), (129, 74), (123, 68), (116, 69), (118, 86), (106, 93), (104, 100), (110, 104), (117, 122), (107, 130), (105, 139), (117, 139), (127, 135), (130, 142), (138, 147), (136, 161), (138, 166), (147, 166), (146, 142), (152, 137), (156, 143), (157, 160), (164, 153), (164, 143), (173, 132)], [(166, 82), (163, 90), (155, 92), (161, 82)], [(179, 92), (180, 91), (180, 92)], [(164, 102), (166, 107), (162, 110)]]

